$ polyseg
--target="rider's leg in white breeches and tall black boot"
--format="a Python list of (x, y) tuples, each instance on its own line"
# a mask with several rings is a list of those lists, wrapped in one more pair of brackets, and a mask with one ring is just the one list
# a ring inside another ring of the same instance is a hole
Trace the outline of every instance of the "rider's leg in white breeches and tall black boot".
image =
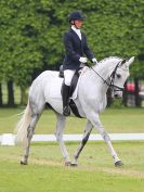
[(70, 108), (68, 106), (69, 101), (69, 93), (70, 93), (70, 84), (73, 76), (76, 71), (65, 69), (64, 71), (64, 85), (63, 85), (63, 115), (68, 116), (70, 115)]

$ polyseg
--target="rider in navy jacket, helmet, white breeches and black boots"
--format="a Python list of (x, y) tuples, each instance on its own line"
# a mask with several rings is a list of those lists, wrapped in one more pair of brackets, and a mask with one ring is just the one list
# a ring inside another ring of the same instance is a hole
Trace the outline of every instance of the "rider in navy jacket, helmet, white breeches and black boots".
[[(86, 17), (80, 11), (75, 11), (69, 14), (68, 21), (71, 25), (70, 29), (64, 34), (65, 59), (63, 62), (64, 69), (64, 85), (63, 85), (63, 115), (68, 116), (70, 108), (68, 106), (70, 82), (75, 72), (79, 68), (80, 64), (87, 63), (87, 57), (97, 63), (93, 53), (87, 44), (87, 37), (81, 33), (83, 20)], [(87, 56), (87, 57), (86, 57)]]

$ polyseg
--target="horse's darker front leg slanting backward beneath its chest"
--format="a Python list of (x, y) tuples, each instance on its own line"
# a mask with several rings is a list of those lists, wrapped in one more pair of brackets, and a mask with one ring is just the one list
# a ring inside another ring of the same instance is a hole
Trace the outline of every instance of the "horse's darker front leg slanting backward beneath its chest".
[(84, 148), (84, 145), (86, 145), (86, 143), (89, 139), (92, 127), (93, 127), (92, 124), (88, 120), (86, 129), (84, 129), (82, 141), (81, 141), (80, 145), (78, 146), (77, 151), (74, 153), (74, 159), (71, 162), (71, 166), (77, 166), (78, 165), (78, 157), (79, 157), (82, 149)]

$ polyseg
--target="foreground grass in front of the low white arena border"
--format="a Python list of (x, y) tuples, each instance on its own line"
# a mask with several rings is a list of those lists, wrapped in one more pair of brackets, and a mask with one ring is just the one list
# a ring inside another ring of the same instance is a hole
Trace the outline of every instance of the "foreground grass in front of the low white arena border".
[[(78, 143), (67, 143), (70, 154)], [(19, 146), (0, 148), (0, 192), (142, 192), (144, 142), (115, 142), (125, 163), (115, 168), (104, 142), (89, 142), (76, 168), (65, 167), (55, 143), (32, 144), (29, 165)]]

